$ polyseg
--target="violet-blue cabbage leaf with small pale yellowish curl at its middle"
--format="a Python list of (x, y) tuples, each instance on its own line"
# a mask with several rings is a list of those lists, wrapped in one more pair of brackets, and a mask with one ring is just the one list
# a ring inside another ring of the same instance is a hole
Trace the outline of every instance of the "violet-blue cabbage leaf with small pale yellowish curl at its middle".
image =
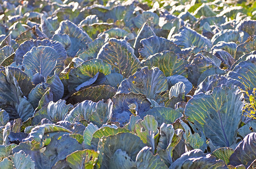
[(150, 110), (151, 103), (147, 100), (147, 97), (141, 94), (117, 94), (112, 98), (113, 101), (113, 115), (112, 122), (119, 122), (121, 126), (124, 126), (129, 122), (130, 116), (134, 111), (136, 115), (147, 112)]

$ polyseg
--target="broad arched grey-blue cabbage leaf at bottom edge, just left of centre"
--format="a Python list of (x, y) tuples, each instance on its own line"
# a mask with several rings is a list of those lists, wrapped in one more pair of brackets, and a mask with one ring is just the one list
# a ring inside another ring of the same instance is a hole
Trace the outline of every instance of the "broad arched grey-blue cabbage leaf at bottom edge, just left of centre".
[(102, 168), (109, 168), (110, 159), (116, 150), (121, 149), (135, 161), (136, 155), (144, 147), (138, 136), (130, 133), (120, 133), (114, 136), (103, 137), (98, 145), (99, 163)]

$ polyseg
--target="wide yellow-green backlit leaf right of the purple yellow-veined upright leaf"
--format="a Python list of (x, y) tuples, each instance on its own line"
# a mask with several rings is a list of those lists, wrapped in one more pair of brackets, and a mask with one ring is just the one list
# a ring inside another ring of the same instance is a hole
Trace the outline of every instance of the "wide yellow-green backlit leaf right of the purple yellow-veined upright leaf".
[(152, 68), (158, 67), (166, 77), (174, 74), (180, 74), (187, 77), (186, 65), (187, 61), (181, 59), (174, 52), (163, 51), (155, 55), (151, 55), (142, 62), (143, 66)]

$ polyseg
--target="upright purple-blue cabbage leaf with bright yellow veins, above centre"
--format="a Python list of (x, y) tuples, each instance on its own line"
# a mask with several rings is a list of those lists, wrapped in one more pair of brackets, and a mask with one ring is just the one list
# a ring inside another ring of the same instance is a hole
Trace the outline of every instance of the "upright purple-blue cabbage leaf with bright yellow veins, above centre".
[(101, 47), (97, 59), (102, 59), (109, 63), (112, 65), (112, 69), (115, 69), (116, 72), (124, 77), (129, 77), (129, 75), (135, 73), (140, 64), (129, 43), (115, 38), (110, 38), (109, 42)]

